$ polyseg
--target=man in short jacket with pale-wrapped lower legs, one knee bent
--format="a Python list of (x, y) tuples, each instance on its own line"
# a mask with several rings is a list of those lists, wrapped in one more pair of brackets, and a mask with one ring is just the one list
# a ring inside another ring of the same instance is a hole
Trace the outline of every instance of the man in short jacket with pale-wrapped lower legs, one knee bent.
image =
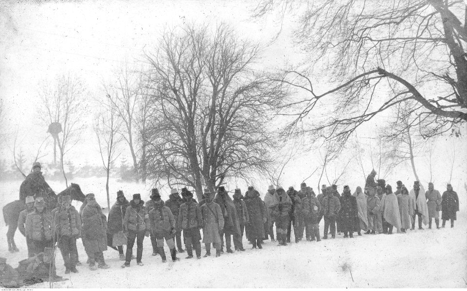
[(170, 211), (169, 207), (164, 206), (164, 202), (161, 200), (161, 195), (159, 195), (159, 193), (154, 193), (152, 199), (154, 199), (154, 208), (149, 211), (149, 222), (151, 224), (151, 231), (156, 237), (158, 253), (161, 255), (162, 262), (165, 263), (167, 261), (164, 251), (165, 239), (170, 249), (172, 261), (178, 261), (180, 259), (176, 256), (177, 252), (174, 243), (174, 235), (177, 231), (172, 211)]

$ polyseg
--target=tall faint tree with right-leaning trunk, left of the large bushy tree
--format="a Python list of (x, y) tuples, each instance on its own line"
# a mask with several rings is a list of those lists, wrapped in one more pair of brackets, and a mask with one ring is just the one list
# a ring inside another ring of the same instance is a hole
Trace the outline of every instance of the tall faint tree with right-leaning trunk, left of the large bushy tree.
[(120, 131), (125, 139), (128, 149), (131, 154), (134, 169), (134, 179), (138, 181), (138, 157), (136, 135), (138, 134), (138, 102), (140, 97), (140, 79), (141, 75), (138, 71), (129, 68), (128, 63), (115, 73), (115, 82), (106, 86), (106, 91), (109, 93), (108, 99), (116, 108), (117, 116), (122, 120), (123, 126)]

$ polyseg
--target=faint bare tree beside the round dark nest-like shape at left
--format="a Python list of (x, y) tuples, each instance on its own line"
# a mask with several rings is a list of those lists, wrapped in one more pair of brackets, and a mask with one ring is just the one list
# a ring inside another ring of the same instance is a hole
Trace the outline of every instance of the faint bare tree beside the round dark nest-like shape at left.
[(86, 112), (87, 90), (83, 82), (76, 76), (62, 75), (57, 76), (54, 83), (42, 83), (39, 91), (40, 101), (42, 103), (40, 118), (44, 124), (54, 124), (54, 138), (60, 154), (60, 165), (65, 178), (65, 184), (68, 187), (68, 180), (64, 169), (65, 155), (78, 143), (82, 130), (83, 115)]

